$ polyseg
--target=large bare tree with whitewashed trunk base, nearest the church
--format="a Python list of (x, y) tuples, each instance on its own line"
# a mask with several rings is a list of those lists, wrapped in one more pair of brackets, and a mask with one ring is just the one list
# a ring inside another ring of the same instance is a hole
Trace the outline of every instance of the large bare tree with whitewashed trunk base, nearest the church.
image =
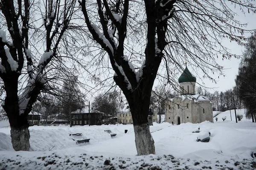
[[(182, 70), (186, 60), (209, 79), (208, 71), (222, 74), (215, 57), (235, 55), (221, 40), (240, 45), (245, 40), (244, 25), (235, 20), (230, 6), (255, 10), (247, 0), (79, 0), (79, 4), (87, 28), (107, 52), (115, 71), (113, 79), (130, 106), (138, 155), (155, 153), (148, 112), (161, 62), (166, 69), (162, 77), (172, 85), (177, 85), (175, 70)], [(138, 48), (143, 49), (140, 55)]]

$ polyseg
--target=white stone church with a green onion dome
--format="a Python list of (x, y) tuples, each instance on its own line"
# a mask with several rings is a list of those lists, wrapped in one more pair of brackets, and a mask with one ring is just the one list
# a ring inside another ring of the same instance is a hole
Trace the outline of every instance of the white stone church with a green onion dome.
[(179, 77), (180, 95), (169, 99), (166, 103), (165, 121), (180, 123), (213, 122), (212, 102), (202, 94), (195, 94), (194, 77), (186, 67)]

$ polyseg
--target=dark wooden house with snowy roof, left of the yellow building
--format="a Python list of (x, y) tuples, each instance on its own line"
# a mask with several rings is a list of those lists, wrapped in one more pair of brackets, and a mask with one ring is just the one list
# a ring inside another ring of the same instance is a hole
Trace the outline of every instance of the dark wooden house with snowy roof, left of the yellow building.
[(87, 107), (71, 112), (71, 125), (102, 125), (102, 115), (97, 110), (90, 110)]

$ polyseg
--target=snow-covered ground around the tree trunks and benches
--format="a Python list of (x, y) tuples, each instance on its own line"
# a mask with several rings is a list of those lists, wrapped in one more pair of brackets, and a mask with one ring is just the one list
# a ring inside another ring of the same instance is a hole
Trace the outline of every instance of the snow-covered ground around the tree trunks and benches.
[[(1, 122), (0, 122), (1, 124)], [(200, 133), (211, 132), (207, 143), (196, 142)], [(128, 130), (124, 133), (124, 130)], [(117, 135), (111, 138), (104, 130)], [(136, 156), (133, 125), (33, 126), (29, 127), (31, 151), (10, 148), (10, 128), (0, 128), (0, 169), (108, 170), (108, 169), (255, 169), (256, 123), (202, 122), (150, 126), (156, 155)], [(5, 134), (3, 134), (5, 133)], [(90, 142), (77, 145), (70, 133), (82, 133)], [(3, 139), (4, 138), (4, 139)], [(9, 142), (9, 143), (8, 143)], [(3, 142), (0, 142), (2, 145)]]

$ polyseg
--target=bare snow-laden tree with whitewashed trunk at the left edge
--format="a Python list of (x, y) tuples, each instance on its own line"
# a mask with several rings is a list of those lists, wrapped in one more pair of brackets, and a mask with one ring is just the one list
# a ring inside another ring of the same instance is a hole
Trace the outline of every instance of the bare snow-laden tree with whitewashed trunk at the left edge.
[[(46, 71), (47, 66), (58, 62), (58, 46), (70, 26), (75, 2), (0, 0), (0, 78), (6, 93), (2, 106), (15, 150), (29, 150), (27, 115), (41, 91), (50, 90), (46, 77), (52, 68)], [(38, 42), (45, 45), (41, 51), (34, 48)], [(24, 76), (26, 82), (20, 86)]]

